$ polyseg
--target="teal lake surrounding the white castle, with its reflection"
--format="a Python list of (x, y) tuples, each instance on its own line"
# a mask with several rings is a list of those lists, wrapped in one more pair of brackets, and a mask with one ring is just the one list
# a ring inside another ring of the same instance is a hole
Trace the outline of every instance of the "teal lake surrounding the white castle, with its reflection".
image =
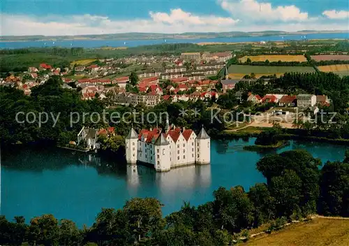
[[(11, 149), (2, 154), (1, 215), (52, 213), (57, 219), (72, 219), (78, 226), (91, 226), (101, 208), (122, 208), (125, 201), (156, 197), (164, 204), (163, 215), (179, 210), (184, 201), (200, 205), (213, 200), (213, 191), (242, 185), (246, 190), (265, 178), (255, 169), (264, 154), (243, 150), (248, 140), (211, 141), (211, 165), (172, 169), (156, 173), (144, 166), (119, 165), (84, 153), (61, 149)], [(343, 160), (345, 146), (328, 143), (297, 143), (277, 152), (308, 150), (325, 162)], [(117, 164), (117, 159), (113, 161)]]

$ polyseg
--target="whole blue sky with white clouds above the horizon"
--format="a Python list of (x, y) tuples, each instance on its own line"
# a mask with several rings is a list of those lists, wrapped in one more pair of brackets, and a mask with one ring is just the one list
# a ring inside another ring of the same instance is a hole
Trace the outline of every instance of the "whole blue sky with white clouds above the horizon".
[(349, 30), (348, 0), (0, 0), (0, 35)]

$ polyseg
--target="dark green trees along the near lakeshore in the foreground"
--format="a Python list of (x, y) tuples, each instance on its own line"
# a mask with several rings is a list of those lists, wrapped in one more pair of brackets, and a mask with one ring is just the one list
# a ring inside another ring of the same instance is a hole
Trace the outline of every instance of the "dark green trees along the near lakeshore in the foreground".
[[(237, 186), (214, 191), (213, 201), (184, 203), (163, 217), (155, 198), (132, 198), (124, 208), (103, 208), (91, 227), (78, 229), (53, 215), (0, 217), (1, 245), (232, 245), (245, 229), (275, 219), (315, 213), (349, 216), (349, 152), (344, 162), (321, 162), (305, 150), (269, 154), (257, 163), (266, 183), (245, 191)], [(271, 223), (273, 225), (273, 223)]]

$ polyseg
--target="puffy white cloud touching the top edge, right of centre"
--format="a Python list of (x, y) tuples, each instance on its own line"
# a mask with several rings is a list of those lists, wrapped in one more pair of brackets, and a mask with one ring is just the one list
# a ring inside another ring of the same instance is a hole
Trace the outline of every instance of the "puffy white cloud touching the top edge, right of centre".
[(233, 17), (244, 17), (246, 22), (301, 22), (309, 19), (308, 13), (294, 5), (273, 7), (272, 3), (258, 3), (255, 0), (218, 0), (218, 3)]

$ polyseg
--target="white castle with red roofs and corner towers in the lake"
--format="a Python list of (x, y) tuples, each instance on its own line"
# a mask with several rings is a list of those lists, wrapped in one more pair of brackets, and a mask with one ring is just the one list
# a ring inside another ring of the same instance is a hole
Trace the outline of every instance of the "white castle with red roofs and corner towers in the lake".
[(156, 171), (192, 164), (209, 164), (210, 138), (202, 127), (198, 136), (191, 129), (166, 126), (162, 129), (143, 129), (139, 134), (133, 128), (126, 136), (126, 161), (154, 165)]

